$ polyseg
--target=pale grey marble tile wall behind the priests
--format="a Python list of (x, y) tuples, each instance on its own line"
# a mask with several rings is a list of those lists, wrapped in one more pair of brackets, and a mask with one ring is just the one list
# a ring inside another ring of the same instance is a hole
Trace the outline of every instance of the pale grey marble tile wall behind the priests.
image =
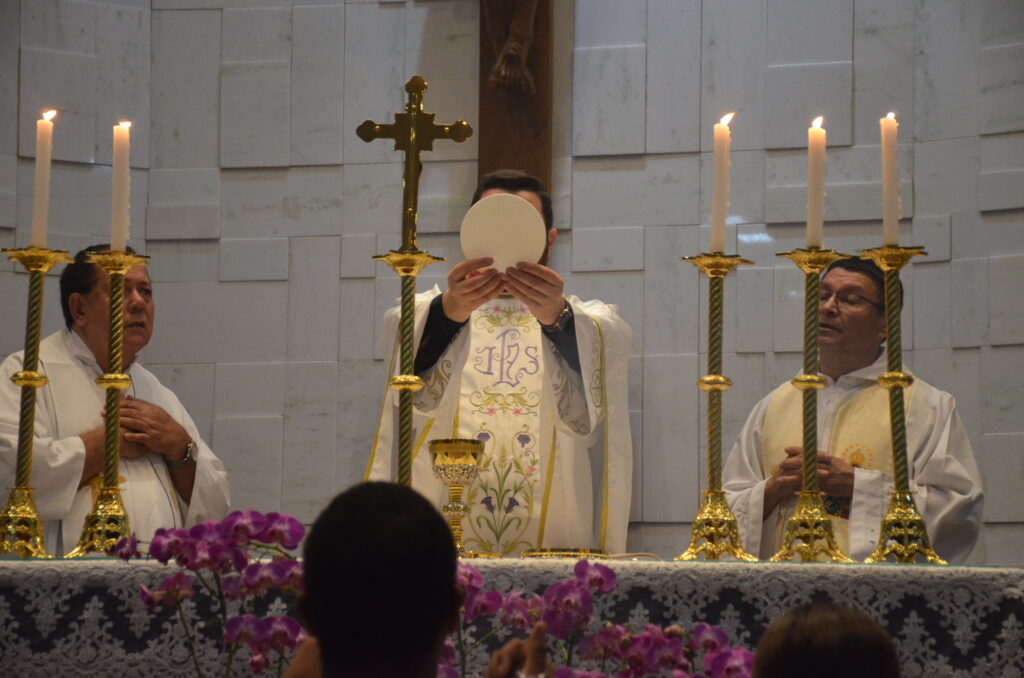
[[(132, 244), (153, 256), (143, 359), (233, 480), (236, 507), (311, 520), (362, 476), (383, 395), (379, 319), (398, 295), (370, 257), (398, 244), (401, 157), (365, 143), (415, 73), (427, 110), (475, 124), (477, 0), (20, 0), (0, 3), (0, 246), (32, 219), (34, 121), (61, 109), (51, 243), (106, 240), (110, 127), (132, 130)], [(1024, 7), (1014, 0), (558, 0), (552, 263), (634, 329), (629, 547), (674, 556), (703, 483), (711, 127), (733, 123), (725, 447), (801, 363), (807, 121), (826, 115), (825, 240), (880, 238), (878, 119), (900, 120), (906, 361), (957, 398), (988, 502), (978, 562), (1024, 564)], [(424, 156), (420, 244), (450, 261), (476, 144)], [(25, 281), (0, 262), (5, 317)], [(46, 331), (60, 327), (55, 277)], [(20, 347), (0, 324), (0, 353)]]

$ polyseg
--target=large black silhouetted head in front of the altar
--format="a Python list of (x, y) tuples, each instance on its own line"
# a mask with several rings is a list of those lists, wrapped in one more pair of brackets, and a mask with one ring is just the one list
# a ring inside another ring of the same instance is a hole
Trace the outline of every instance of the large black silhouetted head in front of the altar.
[[(316, 518), (304, 547), (302, 616), (326, 676), (400, 674), (433, 651), (456, 612), (456, 551), (415, 490), (364, 482)], [(394, 629), (400, 622), (399, 640)], [(361, 671), (360, 671), (361, 670)]]

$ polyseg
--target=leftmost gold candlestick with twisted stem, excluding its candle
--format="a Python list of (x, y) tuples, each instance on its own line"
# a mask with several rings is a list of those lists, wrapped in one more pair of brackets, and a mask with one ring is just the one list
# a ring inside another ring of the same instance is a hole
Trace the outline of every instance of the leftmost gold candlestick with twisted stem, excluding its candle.
[(17, 422), (17, 461), (14, 486), (0, 513), (0, 553), (16, 553), (23, 558), (49, 558), (43, 544), (43, 525), (36, 511), (32, 491), (32, 443), (36, 427), (36, 389), (46, 385), (39, 368), (39, 340), (43, 325), (43, 287), (46, 273), (58, 263), (68, 263), (67, 250), (41, 247), (3, 250), (7, 258), (29, 271), (29, 305), (25, 323), (25, 358), (22, 371), (10, 380), (22, 387)]

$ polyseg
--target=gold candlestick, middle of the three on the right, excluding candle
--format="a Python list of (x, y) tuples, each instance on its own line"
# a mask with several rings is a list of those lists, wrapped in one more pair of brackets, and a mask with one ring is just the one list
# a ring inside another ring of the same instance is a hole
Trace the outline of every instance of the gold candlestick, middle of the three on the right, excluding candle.
[(793, 385), (804, 392), (804, 468), (797, 509), (786, 522), (782, 547), (771, 560), (791, 560), (799, 555), (805, 562), (810, 562), (823, 555), (834, 562), (853, 562), (836, 544), (831, 518), (818, 491), (818, 398), (815, 392), (825, 385), (824, 379), (818, 376), (821, 271), (833, 261), (847, 259), (850, 255), (809, 247), (778, 256), (792, 259), (804, 271), (804, 374), (793, 380)]

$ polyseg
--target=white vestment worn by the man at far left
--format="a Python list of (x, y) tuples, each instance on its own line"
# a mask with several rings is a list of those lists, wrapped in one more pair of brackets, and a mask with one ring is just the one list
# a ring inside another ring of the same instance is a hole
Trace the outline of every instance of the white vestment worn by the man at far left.
[[(9, 375), (22, 367), (22, 353), (0, 369), (0, 480), (13, 484), (17, 450), (19, 389)], [(82, 433), (103, 425), (105, 391), (96, 385), (101, 371), (74, 332), (61, 330), (40, 343), (39, 370), (49, 381), (36, 392), (32, 485), (43, 518), (46, 550), (63, 555), (78, 544), (85, 516), (102, 484), (102, 472), (79, 488), (85, 464)], [(197, 444), (196, 482), (190, 501), (175, 491), (163, 457), (150, 454), (118, 461), (118, 485), (128, 512), (129, 529), (148, 541), (159, 527), (187, 527), (227, 513), (227, 473), (202, 440), (178, 398), (138, 361), (126, 371), (129, 395), (159, 406), (188, 432)]]

